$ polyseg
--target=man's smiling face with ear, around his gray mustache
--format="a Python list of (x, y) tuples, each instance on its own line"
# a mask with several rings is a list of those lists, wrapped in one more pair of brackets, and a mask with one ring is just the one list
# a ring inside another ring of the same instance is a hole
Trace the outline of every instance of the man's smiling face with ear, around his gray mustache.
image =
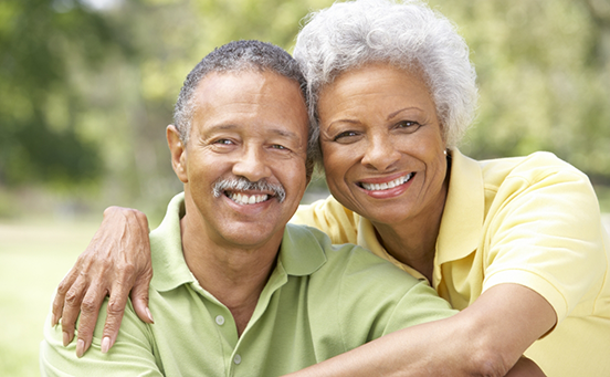
[[(307, 186), (308, 124), (298, 84), (272, 72), (211, 73), (199, 83), (194, 102), (186, 148), (168, 127), (188, 224), (219, 245), (278, 243)], [(269, 185), (254, 190), (221, 185), (212, 193), (214, 185), (240, 178)]]

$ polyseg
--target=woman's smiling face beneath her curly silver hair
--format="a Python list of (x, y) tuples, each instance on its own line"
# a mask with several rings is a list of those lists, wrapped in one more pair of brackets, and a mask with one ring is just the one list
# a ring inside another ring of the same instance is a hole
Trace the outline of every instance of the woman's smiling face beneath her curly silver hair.
[(446, 172), (441, 124), (420, 75), (389, 64), (348, 71), (318, 102), (328, 188), (374, 223), (440, 216)]

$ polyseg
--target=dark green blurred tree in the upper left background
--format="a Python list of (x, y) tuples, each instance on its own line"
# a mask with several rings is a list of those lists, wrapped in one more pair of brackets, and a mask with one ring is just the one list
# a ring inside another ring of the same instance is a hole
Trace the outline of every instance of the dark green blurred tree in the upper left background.
[(0, 3), (0, 184), (97, 178), (95, 140), (80, 133), (85, 102), (70, 71), (95, 70), (117, 49), (133, 53), (99, 14), (78, 2)]

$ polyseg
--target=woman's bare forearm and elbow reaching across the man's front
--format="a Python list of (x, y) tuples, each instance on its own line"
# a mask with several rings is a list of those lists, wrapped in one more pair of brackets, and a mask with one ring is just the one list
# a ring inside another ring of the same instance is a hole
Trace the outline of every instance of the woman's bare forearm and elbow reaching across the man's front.
[(540, 376), (519, 358), (555, 323), (538, 293), (499, 284), (453, 317), (386, 335), (291, 376)]

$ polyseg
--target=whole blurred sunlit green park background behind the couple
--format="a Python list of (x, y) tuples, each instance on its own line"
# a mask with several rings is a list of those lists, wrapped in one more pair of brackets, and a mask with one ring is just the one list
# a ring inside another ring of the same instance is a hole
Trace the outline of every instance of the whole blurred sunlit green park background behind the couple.
[[(53, 289), (111, 205), (156, 227), (181, 189), (165, 127), (214, 46), (292, 51), (329, 0), (0, 2), (0, 375), (36, 376)], [(432, 0), (478, 73), (474, 158), (550, 150), (589, 175), (610, 212), (610, 1)], [(313, 198), (324, 190), (318, 180)], [(307, 199), (309, 200), (309, 199)]]

